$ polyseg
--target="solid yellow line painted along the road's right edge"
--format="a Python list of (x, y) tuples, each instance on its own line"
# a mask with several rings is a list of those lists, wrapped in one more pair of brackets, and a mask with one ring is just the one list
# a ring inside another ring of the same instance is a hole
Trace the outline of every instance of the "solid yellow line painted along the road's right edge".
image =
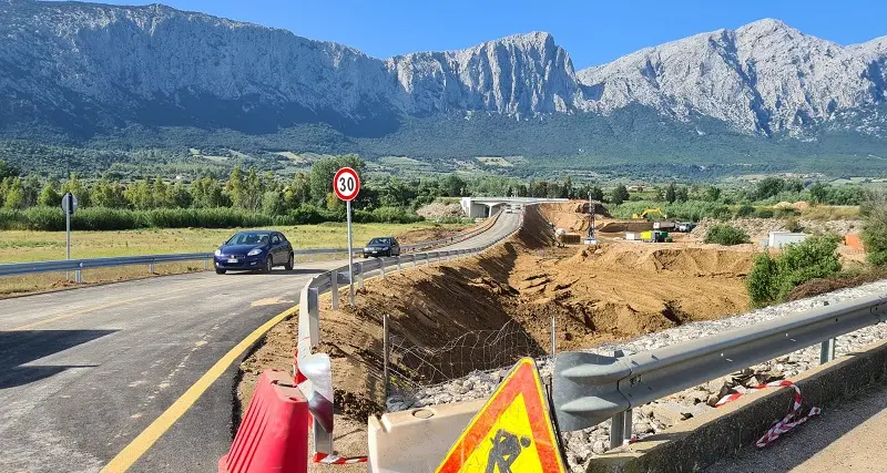
[(298, 311), (298, 306), (293, 307), (289, 310), (286, 310), (282, 313), (278, 313), (273, 319), (268, 320), (267, 322), (263, 323), (262, 327), (253, 330), (252, 333), (246, 336), (237, 346), (232, 348), (227, 353), (225, 353), (222, 359), (215, 362), (212, 368), (210, 368), (206, 373), (204, 373), (201, 379), (198, 379), (191, 388), (185, 391), (182, 397), (175, 400), (172, 405), (170, 405), (154, 422), (151, 422), (151, 425), (145, 428), (142, 433), (139, 434), (129, 445), (126, 445), (123, 450), (114, 456), (105, 467), (102, 469), (102, 472), (125, 472), (129, 470), (142, 455), (151, 449), (152, 445), (161, 438), (167, 430), (170, 430), (175, 422), (197, 402), (197, 399), (210, 389), (210, 385), (215, 382), (222, 374), (224, 374), (225, 370), (237, 360), (237, 357), (241, 356), (244, 351), (246, 351), (249, 346), (255, 343), (262, 336), (265, 335), (268, 330), (271, 330), (274, 326), (282, 322), (287, 317), (296, 313)]

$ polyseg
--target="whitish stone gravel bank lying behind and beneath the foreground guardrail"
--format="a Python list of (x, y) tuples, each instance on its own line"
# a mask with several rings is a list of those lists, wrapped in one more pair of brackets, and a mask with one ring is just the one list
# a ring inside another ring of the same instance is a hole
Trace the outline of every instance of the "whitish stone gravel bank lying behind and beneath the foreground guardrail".
[[(871, 295), (887, 295), (887, 280), (753, 310), (720, 320), (691, 322), (623, 342), (601, 345), (588, 351), (605, 356), (612, 356), (614, 350), (623, 350), (626, 353), (648, 351), (761, 323), (815, 307)], [(836, 352), (837, 356), (846, 354), (885, 338), (887, 338), (887, 325), (867, 327), (838, 337)], [(549, 359), (540, 359), (537, 363), (543, 378), (551, 376), (552, 367)], [(662, 432), (677, 422), (714, 409), (715, 402), (727, 393), (745, 392), (750, 388), (769, 381), (791, 379), (791, 377), (818, 364), (819, 346), (817, 345), (663, 398), (633, 411), (634, 433), (639, 438), (643, 438)], [(400, 399), (392, 399), (390, 400), (392, 402), (389, 402), (389, 409), (400, 410), (487, 398), (506, 372), (507, 370), (473, 372), (462, 379), (425, 388), (417, 393), (415, 401), (404, 402)], [(609, 421), (583, 431), (563, 433), (562, 440), (567, 449), (570, 469), (575, 472), (584, 471), (589, 459), (604, 453), (609, 449)]]

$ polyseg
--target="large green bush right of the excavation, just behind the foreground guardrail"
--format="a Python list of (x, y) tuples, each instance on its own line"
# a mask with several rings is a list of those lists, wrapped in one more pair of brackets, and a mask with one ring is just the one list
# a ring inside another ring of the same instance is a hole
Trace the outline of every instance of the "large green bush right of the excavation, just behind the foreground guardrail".
[(746, 279), (752, 305), (764, 307), (783, 302), (796, 286), (840, 271), (838, 240), (836, 235), (813, 236), (788, 245), (775, 257), (766, 253), (755, 257)]

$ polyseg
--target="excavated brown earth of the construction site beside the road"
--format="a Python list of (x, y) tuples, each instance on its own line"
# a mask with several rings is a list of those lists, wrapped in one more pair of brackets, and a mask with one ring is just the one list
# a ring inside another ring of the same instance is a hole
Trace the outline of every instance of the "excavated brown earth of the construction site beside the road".
[[(516, 361), (501, 357), (588, 349), (748, 309), (743, 278), (759, 246), (706, 245), (690, 232), (672, 232), (653, 243), (653, 222), (641, 216), (614, 219), (602, 206), (592, 216), (589, 208), (587, 202), (528, 206), (520, 230), (480, 255), (367, 280), (354, 307), (330, 310), (329, 295), (322, 296), (317, 350), (333, 361), (337, 450), (364, 454), (368, 415), (421, 403), (416, 399), (421, 392), (408, 392), (402, 397), (414, 399), (400, 397), (394, 404), (386, 399), (386, 316), (399, 346), (428, 358), (405, 366), (406, 357), (392, 354), (394, 368), (414, 378), (407, 381), (415, 391)], [(648, 238), (626, 239), (644, 233)], [(297, 326), (295, 319), (278, 325), (243, 362), (237, 388), (242, 409), (263, 370), (292, 367)], [(453, 360), (453, 353), (445, 359), (438, 350), (453, 348), (452, 340), (466, 333), (493, 333), (503, 327), (517, 333), (510, 333), (512, 347), (493, 347), (500, 358), (456, 347), (461, 350), (456, 357), (467, 359)], [(513, 352), (516, 345), (519, 353)], [(438, 366), (436, 373), (422, 371), (429, 366)], [(440, 367), (447, 368), (443, 379)], [(458, 393), (447, 399), (460, 400)]]

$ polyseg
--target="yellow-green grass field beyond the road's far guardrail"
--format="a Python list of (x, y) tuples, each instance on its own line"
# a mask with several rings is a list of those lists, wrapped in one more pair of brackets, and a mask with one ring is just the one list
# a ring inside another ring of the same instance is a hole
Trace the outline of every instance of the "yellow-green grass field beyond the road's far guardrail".
[[(406, 232), (443, 227), (459, 229), (465, 225), (439, 225), (429, 222), (416, 224), (355, 224), (354, 246), (361, 247), (374, 236), (401, 235)], [(346, 225), (326, 223), (296, 227), (272, 227), (281, 230), (294, 248), (344, 248), (348, 245)], [(145, 229), (128, 232), (73, 232), (72, 258), (101, 258), (167, 253), (213, 251), (236, 229)], [(343, 257), (341, 255), (336, 255)], [(0, 264), (64, 259), (64, 232), (0, 232)], [(318, 258), (319, 259), (319, 258)], [(154, 275), (181, 274), (203, 270), (203, 263), (170, 263), (156, 265)], [(145, 266), (102, 268), (83, 271), (86, 284), (108, 282), (151, 276)], [(0, 278), (0, 297), (74, 286), (64, 274), (39, 274)]]

